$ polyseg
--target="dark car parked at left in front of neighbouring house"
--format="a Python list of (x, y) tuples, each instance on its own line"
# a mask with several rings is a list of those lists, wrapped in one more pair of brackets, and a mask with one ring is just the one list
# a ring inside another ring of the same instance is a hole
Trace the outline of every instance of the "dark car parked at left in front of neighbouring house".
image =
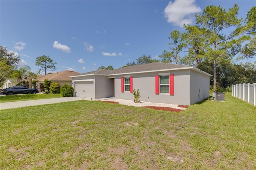
[(36, 94), (39, 93), (38, 89), (28, 89), (24, 86), (14, 86), (14, 87), (8, 87), (6, 89), (0, 89), (1, 94), (5, 95), (14, 95), (14, 94), (20, 94), (20, 93), (31, 93)]

